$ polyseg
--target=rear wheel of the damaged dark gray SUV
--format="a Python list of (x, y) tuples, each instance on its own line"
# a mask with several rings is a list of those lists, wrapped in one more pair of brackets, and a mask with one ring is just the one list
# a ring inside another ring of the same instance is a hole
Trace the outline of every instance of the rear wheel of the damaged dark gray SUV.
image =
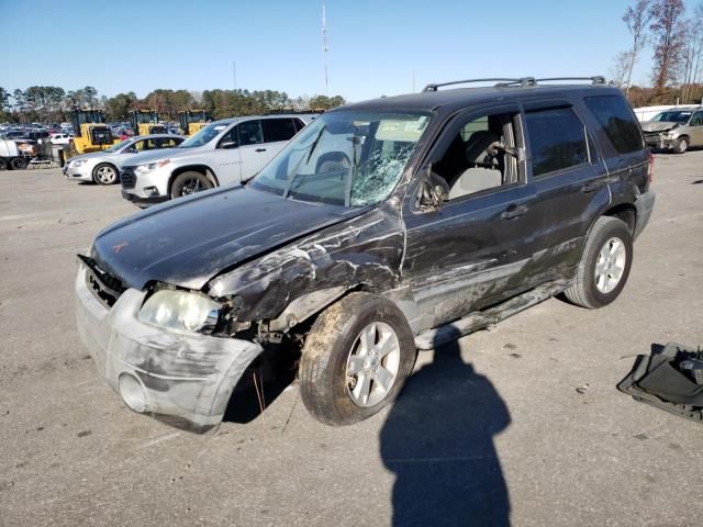
[(588, 235), (577, 277), (565, 295), (594, 310), (613, 302), (627, 282), (633, 261), (633, 236), (616, 217), (601, 216)]

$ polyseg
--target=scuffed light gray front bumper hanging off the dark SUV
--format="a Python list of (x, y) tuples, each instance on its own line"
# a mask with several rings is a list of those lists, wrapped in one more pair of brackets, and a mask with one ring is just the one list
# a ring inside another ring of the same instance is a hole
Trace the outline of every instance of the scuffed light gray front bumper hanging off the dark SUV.
[(137, 314), (146, 293), (129, 289), (108, 307), (89, 289), (88, 273), (81, 265), (76, 277), (78, 333), (108, 384), (137, 413), (199, 434), (216, 429), (261, 347), (144, 324)]

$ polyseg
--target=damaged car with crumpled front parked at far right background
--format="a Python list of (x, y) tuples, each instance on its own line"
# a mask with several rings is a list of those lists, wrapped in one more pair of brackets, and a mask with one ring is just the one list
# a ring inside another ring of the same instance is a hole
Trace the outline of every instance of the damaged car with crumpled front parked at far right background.
[(663, 111), (641, 128), (648, 146), (683, 154), (691, 146), (703, 146), (703, 106)]

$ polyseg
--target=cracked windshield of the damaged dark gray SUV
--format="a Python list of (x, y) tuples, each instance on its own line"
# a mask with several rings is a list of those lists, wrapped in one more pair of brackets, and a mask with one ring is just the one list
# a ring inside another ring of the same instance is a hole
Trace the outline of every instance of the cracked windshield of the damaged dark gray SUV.
[(325, 113), (305, 126), (252, 187), (301, 201), (379, 203), (395, 188), (428, 123), (424, 114)]

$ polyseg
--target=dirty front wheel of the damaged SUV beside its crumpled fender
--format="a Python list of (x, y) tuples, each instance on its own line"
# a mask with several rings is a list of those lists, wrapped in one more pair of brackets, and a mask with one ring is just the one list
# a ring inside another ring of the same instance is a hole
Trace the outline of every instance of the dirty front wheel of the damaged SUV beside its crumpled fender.
[(391, 301), (352, 293), (315, 321), (300, 361), (300, 394), (330, 426), (358, 423), (392, 402), (415, 365), (405, 316)]

